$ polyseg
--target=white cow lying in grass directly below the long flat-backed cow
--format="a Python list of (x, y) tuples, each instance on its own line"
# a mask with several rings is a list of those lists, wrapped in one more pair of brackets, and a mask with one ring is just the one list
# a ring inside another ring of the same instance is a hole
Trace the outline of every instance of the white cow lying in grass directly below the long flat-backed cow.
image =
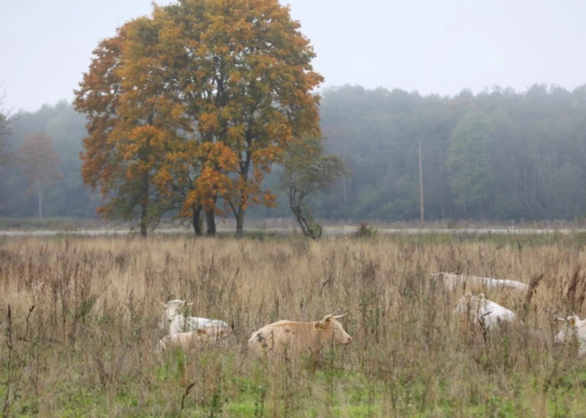
[(479, 294), (479, 296), (474, 296), (469, 292), (462, 296), (455, 306), (454, 313), (467, 313), (471, 315), (471, 318), (478, 320), (479, 324), (485, 328), (494, 328), (501, 322), (512, 322), (517, 319), (517, 315), (514, 312), (488, 300), (483, 293)]

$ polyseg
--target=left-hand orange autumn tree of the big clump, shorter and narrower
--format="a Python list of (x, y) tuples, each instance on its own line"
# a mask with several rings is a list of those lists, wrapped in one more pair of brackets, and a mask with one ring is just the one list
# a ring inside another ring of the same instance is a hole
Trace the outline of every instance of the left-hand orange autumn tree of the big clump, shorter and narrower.
[(133, 72), (145, 63), (126, 59), (129, 32), (141, 39), (145, 49), (156, 41), (156, 29), (142, 18), (100, 42), (75, 91), (75, 109), (89, 120), (89, 137), (83, 140), (81, 154), (82, 176), (107, 199), (99, 213), (123, 220), (138, 216), (140, 233), (146, 236), (148, 225), (156, 224), (172, 207), (153, 186), (167, 140), (173, 135), (168, 129), (172, 118), (157, 101), (162, 85), (147, 85)]

